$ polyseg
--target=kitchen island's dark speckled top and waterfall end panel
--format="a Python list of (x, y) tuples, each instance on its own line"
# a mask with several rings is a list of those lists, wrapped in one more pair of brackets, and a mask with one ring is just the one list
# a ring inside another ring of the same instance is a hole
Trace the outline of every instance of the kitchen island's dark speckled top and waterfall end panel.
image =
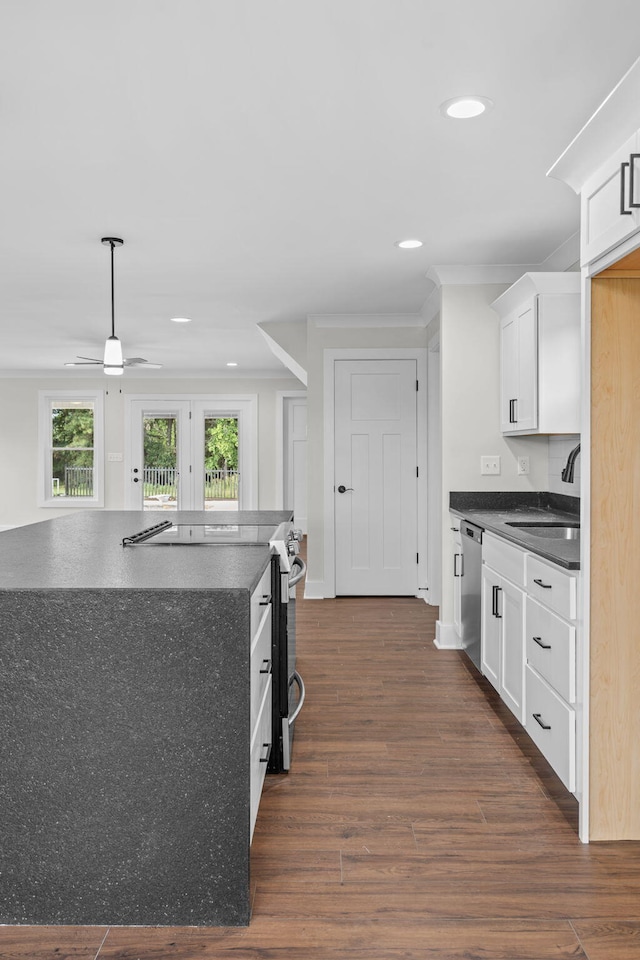
[(0, 923), (249, 921), (251, 596), (270, 549), (123, 547), (166, 519), (0, 534)]

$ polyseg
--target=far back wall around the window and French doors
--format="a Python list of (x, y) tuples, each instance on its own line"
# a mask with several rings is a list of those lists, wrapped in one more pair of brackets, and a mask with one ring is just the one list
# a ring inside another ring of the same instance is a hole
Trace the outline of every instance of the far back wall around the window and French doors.
[[(109, 378), (0, 379), (0, 528), (49, 520), (69, 510), (39, 508), (38, 483), (38, 391), (102, 389), (105, 396), (106, 451), (124, 453), (124, 397), (135, 394), (256, 394), (258, 397), (258, 502), (262, 510), (276, 505), (276, 395), (300, 387), (294, 378), (236, 380)], [(124, 509), (124, 462), (105, 464), (105, 507)]]

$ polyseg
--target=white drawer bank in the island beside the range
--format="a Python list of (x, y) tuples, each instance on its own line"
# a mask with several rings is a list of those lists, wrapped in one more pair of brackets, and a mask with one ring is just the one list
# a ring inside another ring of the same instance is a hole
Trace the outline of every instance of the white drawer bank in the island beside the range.
[(260, 796), (271, 751), (271, 564), (251, 594), (251, 739), (250, 793), (251, 837), (258, 815)]

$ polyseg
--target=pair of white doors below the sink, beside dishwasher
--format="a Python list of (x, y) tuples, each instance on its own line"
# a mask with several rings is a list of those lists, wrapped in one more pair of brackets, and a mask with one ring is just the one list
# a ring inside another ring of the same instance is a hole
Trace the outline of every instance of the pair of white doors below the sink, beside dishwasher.
[(481, 669), (524, 722), (524, 591), (486, 563), (482, 567)]

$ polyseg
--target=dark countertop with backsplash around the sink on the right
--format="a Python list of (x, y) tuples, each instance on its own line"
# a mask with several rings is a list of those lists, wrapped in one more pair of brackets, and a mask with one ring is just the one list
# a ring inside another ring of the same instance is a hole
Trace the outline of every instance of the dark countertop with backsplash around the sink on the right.
[(580, 499), (552, 493), (452, 492), (449, 509), (488, 533), (494, 533), (545, 560), (568, 570), (580, 569), (580, 540), (536, 537), (509, 523), (546, 520), (555, 523), (580, 520)]

